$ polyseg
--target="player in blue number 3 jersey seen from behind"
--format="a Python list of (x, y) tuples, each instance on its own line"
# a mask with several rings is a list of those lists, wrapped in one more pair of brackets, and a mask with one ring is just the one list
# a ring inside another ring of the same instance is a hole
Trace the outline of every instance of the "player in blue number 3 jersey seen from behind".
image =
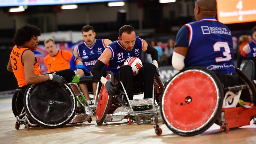
[(231, 31), (215, 19), (216, 12), (216, 0), (196, 1), (196, 22), (187, 23), (179, 30), (172, 65), (177, 70), (204, 67), (216, 72), (224, 86), (234, 85), (238, 82), (238, 75), (235, 72)]

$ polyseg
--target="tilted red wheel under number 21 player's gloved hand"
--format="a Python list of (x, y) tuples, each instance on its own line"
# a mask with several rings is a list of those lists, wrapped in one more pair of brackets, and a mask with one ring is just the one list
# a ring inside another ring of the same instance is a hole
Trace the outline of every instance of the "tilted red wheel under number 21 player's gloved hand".
[[(106, 79), (113, 81), (117, 85), (117, 81), (112, 72), (110, 72), (106, 76)], [(112, 96), (113, 95), (108, 95), (105, 86), (102, 85), (100, 89), (100, 94), (99, 94), (98, 103), (96, 107), (96, 114), (95, 114), (97, 125), (101, 125), (103, 123), (108, 113), (109, 107), (111, 105)]]

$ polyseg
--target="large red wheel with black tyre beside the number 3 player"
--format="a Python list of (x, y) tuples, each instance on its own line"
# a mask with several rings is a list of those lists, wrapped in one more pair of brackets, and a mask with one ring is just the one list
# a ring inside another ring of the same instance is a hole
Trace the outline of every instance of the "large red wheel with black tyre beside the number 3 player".
[(218, 77), (204, 68), (189, 68), (174, 76), (166, 86), (161, 114), (174, 133), (197, 135), (216, 121), (222, 101), (223, 88)]

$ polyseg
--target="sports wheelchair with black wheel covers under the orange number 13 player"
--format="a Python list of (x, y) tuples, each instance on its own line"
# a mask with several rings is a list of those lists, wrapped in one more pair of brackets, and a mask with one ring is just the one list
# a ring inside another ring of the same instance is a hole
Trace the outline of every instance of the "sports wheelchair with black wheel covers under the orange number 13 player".
[(15, 129), (24, 124), (26, 130), (30, 126), (60, 128), (84, 121), (91, 123), (93, 114), (76, 82), (59, 85), (51, 80), (16, 89), (12, 111), (17, 119)]

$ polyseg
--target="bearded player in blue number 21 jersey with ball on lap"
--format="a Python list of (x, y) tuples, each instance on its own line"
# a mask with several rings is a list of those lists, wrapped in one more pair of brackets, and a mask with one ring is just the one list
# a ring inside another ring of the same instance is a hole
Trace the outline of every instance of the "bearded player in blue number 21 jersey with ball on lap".
[[(153, 64), (144, 64), (139, 73), (136, 76), (133, 76), (131, 66), (123, 66), (124, 61), (128, 57), (132, 56), (141, 58), (142, 51), (151, 55)], [(157, 50), (146, 43), (145, 40), (136, 36), (135, 30), (132, 26), (124, 25), (119, 29), (118, 40), (107, 46), (102, 55), (99, 57), (98, 61), (92, 68), (92, 74), (97, 77), (102, 84), (104, 84), (109, 95), (111, 95), (112, 92), (115, 93), (115, 84), (112, 81), (107, 80), (100, 73), (100, 69), (109, 62), (108, 69), (114, 73), (119, 82), (121, 81), (124, 84), (130, 100), (133, 99), (134, 80), (141, 82), (141, 85), (144, 83), (144, 98), (152, 98), (154, 75), (156, 71), (159, 75), (157, 61)]]

